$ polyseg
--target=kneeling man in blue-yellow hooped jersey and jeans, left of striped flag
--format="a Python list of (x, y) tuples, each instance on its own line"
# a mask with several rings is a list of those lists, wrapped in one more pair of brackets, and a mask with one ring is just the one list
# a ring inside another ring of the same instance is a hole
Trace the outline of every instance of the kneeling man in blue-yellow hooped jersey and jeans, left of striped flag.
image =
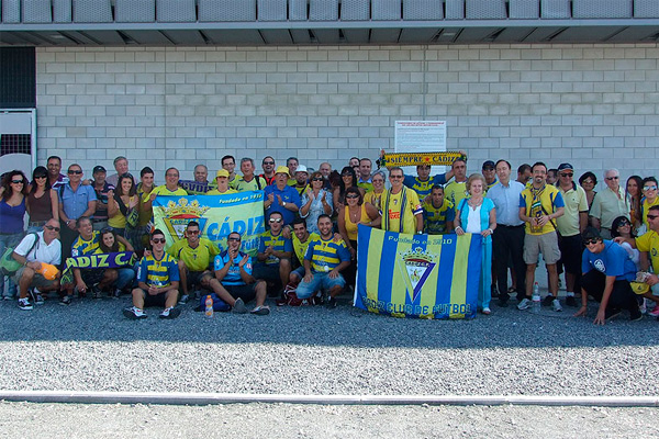
[(319, 216), (321, 237), (313, 240), (304, 256), (304, 279), (298, 285), (298, 299), (309, 299), (321, 290), (330, 292), (327, 307), (336, 307), (336, 296), (346, 281), (340, 274), (350, 264), (350, 251), (342, 239), (336, 241), (328, 215)]

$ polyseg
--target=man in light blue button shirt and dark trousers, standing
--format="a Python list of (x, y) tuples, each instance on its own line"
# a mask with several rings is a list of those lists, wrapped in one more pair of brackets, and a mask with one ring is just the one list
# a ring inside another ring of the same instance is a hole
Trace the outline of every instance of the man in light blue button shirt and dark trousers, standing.
[(487, 196), (494, 202), (496, 209), (496, 228), (492, 235), (492, 250), (499, 289), (499, 306), (507, 306), (510, 299), (509, 261), (512, 261), (517, 282), (517, 301), (522, 301), (526, 295), (526, 264), (523, 257), (524, 222), (520, 219), (520, 195), (524, 191), (524, 184), (511, 181), (512, 168), (506, 160), (496, 161), (495, 169), (499, 184), (493, 185)]

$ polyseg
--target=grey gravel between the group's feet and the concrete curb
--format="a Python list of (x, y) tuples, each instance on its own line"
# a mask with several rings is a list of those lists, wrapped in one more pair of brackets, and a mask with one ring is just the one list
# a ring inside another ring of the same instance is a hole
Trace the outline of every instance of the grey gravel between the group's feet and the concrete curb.
[[(119, 301), (0, 303), (0, 389), (282, 394), (657, 395), (659, 323), (604, 327), (514, 307), (465, 322), (353, 308), (272, 307), (269, 316), (183, 308), (124, 318)], [(1, 418), (1, 416), (0, 416)]]

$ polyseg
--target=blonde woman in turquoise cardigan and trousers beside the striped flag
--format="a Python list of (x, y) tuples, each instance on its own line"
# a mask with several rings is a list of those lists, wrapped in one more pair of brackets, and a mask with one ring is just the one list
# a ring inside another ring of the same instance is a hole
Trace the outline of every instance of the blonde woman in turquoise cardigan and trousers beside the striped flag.
[(483, 237), (481, 278), (478, 288), (478, 306), (488, 315), (492, 300), (492, 233), (496, 228), (496, 211), (494, 202), (483, 198), (485, 178), (472, 173), (467, 180), (467, 192), (470, 198), (458, 205), (454, 222), (458, 235), (480, 234)]

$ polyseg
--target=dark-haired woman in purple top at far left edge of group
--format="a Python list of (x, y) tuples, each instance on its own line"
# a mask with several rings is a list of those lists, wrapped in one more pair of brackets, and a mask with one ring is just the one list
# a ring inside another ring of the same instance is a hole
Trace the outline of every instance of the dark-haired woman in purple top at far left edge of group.
[[(15, 247), (23, 238), (26, 195), (27, 180), (23, 172), (7, 172), (2, 179), (0, 200), (0, 256), (4, 255), (7, 247)], [(9, 289), (4, 291), (4, 277), (0, 278), (0, 294), (5, 301), (11, 301), (16, 295), (16, 285), (10, 278)]]

